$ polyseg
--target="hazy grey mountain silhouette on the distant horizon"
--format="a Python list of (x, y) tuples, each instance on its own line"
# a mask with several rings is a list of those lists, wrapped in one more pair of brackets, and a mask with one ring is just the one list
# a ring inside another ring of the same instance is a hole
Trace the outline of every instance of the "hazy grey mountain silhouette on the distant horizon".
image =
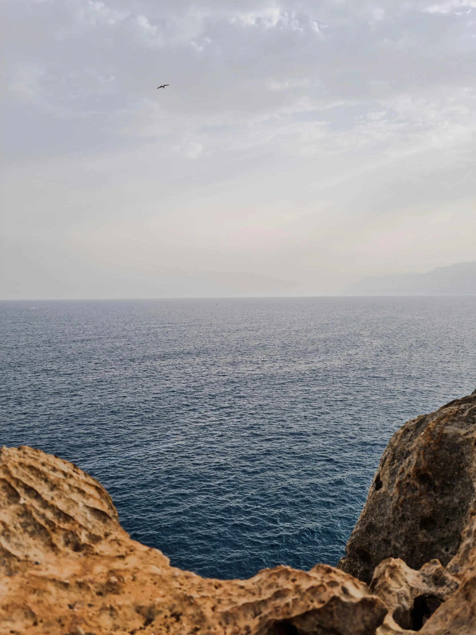
[(437, 267), (426, 274), (366, 277), (347, 291), (349, 295), (473, 295), (476, 262)]

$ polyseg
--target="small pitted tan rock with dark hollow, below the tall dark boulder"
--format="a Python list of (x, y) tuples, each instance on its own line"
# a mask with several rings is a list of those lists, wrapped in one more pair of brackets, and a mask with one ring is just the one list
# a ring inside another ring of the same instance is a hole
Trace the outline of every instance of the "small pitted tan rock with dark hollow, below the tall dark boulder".
[(459, 582), (438, 560), (431, 560), (420, 571), (403, 560), (388, 558), (375, 569), (370, 591), (388, 608), (378, 635), (420, 631), (437, 608), (458, 589)]

